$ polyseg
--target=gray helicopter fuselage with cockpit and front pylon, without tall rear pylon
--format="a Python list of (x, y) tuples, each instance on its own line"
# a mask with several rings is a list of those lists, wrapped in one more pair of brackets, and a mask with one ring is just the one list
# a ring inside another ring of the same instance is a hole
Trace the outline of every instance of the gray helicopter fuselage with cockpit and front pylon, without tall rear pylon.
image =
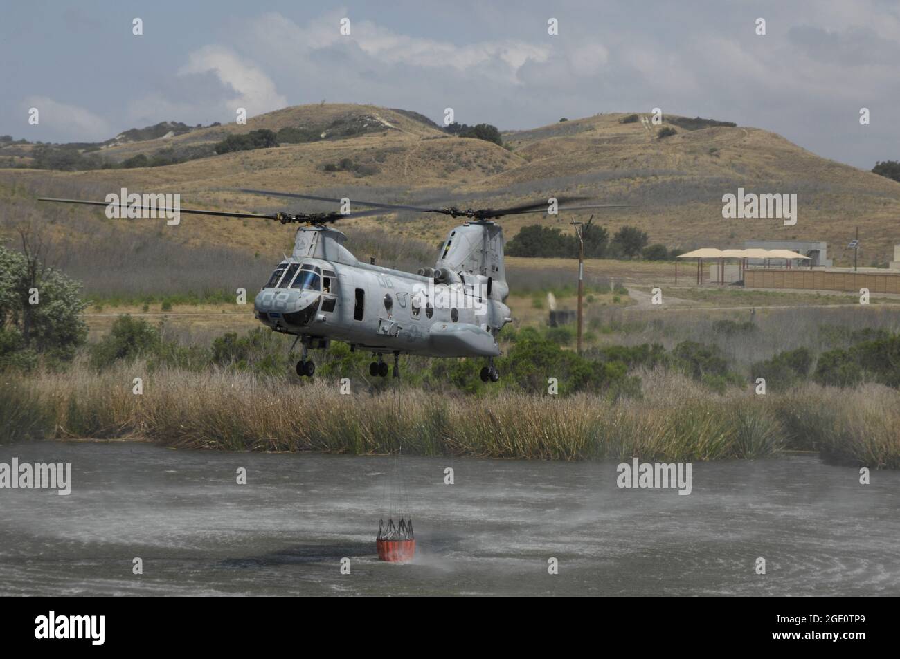
[[(301, 336), (311, 348), (336, 340), (379, 354), (500, 354), (495, 336), (510, 318), (498, 299), (505, 286), (494, 290), (488, 278), (473, 273), (441, 282), (359, 263), (342, 243), (343, 234), (334, 229), (299, 229), (293, 256), (276, 266), (257, 294), (257, 319), (276, 332)], [(317, 257), (329, 253), (337, 259)]]

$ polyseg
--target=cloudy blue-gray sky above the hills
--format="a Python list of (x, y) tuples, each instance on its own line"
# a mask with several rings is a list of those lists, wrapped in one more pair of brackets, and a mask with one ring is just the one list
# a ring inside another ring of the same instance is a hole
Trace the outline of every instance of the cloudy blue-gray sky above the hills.
[(898, 62), (898, 0), (6, 0), (0, 135), (99, 141), (323, 100), (500, 129), (658, 107), (870, 169), (900, 160)]

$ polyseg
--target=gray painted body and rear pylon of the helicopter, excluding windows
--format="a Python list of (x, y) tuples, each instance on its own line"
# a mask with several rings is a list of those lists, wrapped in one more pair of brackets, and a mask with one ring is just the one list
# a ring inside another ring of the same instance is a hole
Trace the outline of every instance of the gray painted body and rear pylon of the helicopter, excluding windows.
[[(334, 272), (329, 290), (264, 288), (254, 302), (257, 317), (277, 332), (298, 334), (304, 343), (324, 347), (330, 340), (355, 344), (372, 352), (408, 352), (430, 357), (495, 357), (494, 335), (511, 319), (503, 300), (509, 293), (503, 270), (503, 236), (492, 222), (467, 223), (447, 236), (436, 281), (411, 272), (360, 263), (331, 227), (300, 227), (293, 254), (280, 265), (318, 267), (321, 277)], [(491, 295), (486, 294), (491, 280)], [(280, 282), (284, 286), (289, 281)], [(356, 289), (364, 291), (362, 320), (356, 320)], [(438, 302), (452, 296), (455, 307)], [(390, 304), (386, 300), (390, 299)], [(433, 313), (428, 317), (428, 299)], [(330, 304), (333, 300), (333, 309)], [(417, 301), (419, 301), (417, 311)], [(311, 305), (317, 306), (311, 315)], [(389, 308), (390, 307), (390, 308)], [(304, 310), (305, 315), (300, 314)], [(455, 313), (454, 313), (455, 311)], [(310, 316), (295, 325), (291, 314)]]

